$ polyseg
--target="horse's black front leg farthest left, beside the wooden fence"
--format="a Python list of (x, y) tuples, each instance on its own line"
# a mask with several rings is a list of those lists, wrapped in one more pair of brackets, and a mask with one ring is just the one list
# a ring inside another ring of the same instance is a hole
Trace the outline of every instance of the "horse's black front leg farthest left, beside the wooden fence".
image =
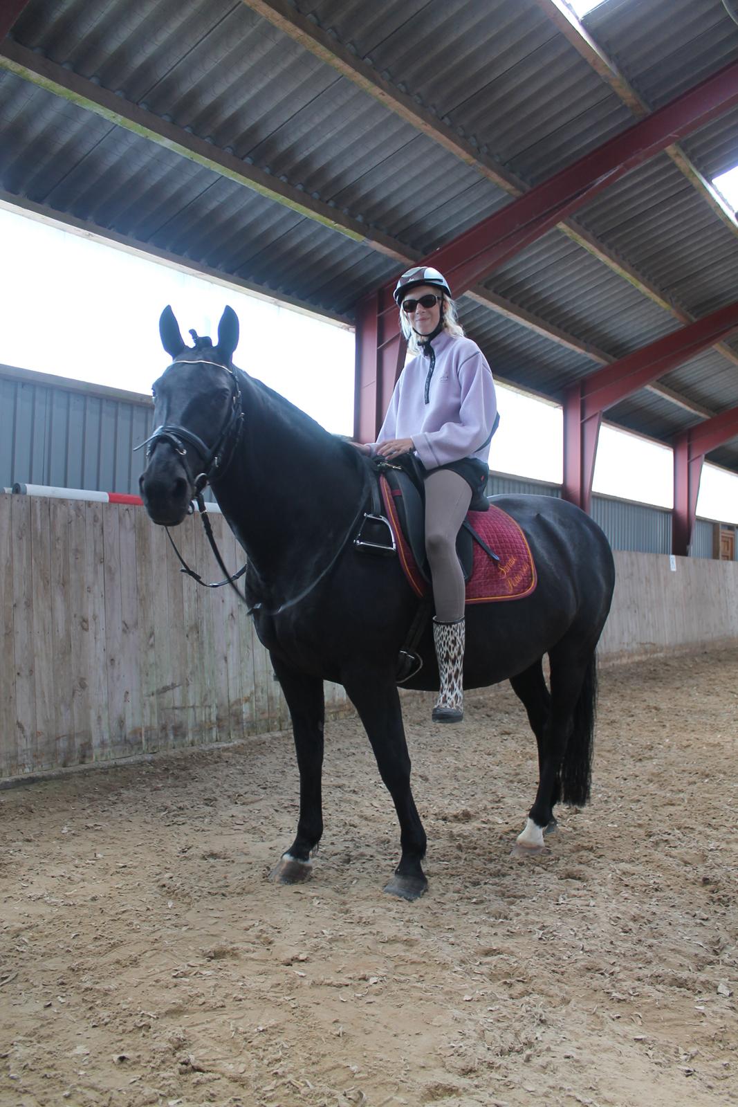
[(310, 880), (312, 853), (323, 835), (323, 682), (295, 672), (278, 658), (272, 656), (272, 664), (292, 720), (300, 770), (300, 818), (294, 841), (270, 876), (282, 884), (295, 884)]

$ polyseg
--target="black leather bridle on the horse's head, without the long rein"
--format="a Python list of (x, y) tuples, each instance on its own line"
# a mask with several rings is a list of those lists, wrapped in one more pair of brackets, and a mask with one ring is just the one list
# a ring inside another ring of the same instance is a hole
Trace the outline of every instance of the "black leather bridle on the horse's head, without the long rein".
[[(142, 449), (146, 446), (146, 461), (148, 461), (159, 442), (166, 442), (174, 447), (176, 453), (179, 455), (181, 467), (187, 474), (189, 483), (195, 492), (193, 501), (188, 507), (188, 514), (191, 515), (194, 513), (195, 504), (197, 504), (200, 518), (202, 519), (202, 527), (205, 528), (205, 534), (207, 535), (207, 539), (210, 544), (210, 549), (214, 552), (220, 570), (226, 573), (226, 579), (215, 581), (210, 584), (202, 580), (200, 575), (195, 572), (195, 570), (190, 569), (187, 565), (184, 557), (177, 549), (174, 538), (169, 534), (169, 528), (165, 527), (164, 529), (167, 532), (167, 538), (169, 539), (171, 548), (177, 555), (181, 566), (180, 571), (186, 572), (188, 577), (196, 580), (198, 584), (202, 586), (202, 588), (222, 588), (224, 584), (230, 584), (239, 600), (242, 600), (243, 603), (248, 603), (246, 596), (242, 596), (236, 587), (236, 581), (246, 572), (248, 562), (245, 562), (238, 572), (232, 575), (228, 572), (228, 569), (224, 565), (222, 558), (220, 557), (220, 551), (216, 545), (212, 527), (210, 526), (210, 520), (208, 518), (208, 509), (205, 505), (205, 498), (202, 496), (202, 493), (214, 477), (219, 478), (225, 475), (233, 458), (233, 454), (236, 453), (238, 439), (241, 436), (241, 428), (243, 426), (243, 406), (241, 403), (241, 389), (238, 383), (238, 377), (233, 369), (229, 365), (222, 365), (219, 361), (207, 361), (205, 358), (198, 358), (195, 361), (173, 361), (170, 365), (167, 365), (167, 369), (174, 369), (175, 365), (215, 365), (217, 369), (222, 369), (226, 373), (228, 373), (233, 382), (228, 418), (226, 420), (220, 434), (216, 438), (215, 446), (206, 445), (206, 443), (204, 443), (197, 434), (188, 431), (186, 426), (181, 426), (179, 423), (162, 423), (162, 425), (157, 426), (156, 431), (154, 431), (154, 434), (149, 435), (148, 438), (144, 439), (144, 442), (139, 443), (137, 446), (134, 446), (134, 453), (136, 449)], [(167, 370), (164, 372), (166, 373), (166, 371)], [(229, 442), (229, 439), (231, 441)], [(200, 473), (197, 476), (194, 476), (189, 467), (187, 448), (184, 445), (184, 442), (188, 443), (198, 454)]]

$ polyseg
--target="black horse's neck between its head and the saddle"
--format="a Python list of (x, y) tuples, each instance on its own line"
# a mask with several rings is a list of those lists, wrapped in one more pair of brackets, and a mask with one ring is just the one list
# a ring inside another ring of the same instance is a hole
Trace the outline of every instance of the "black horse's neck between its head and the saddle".
[[(314, 575), (360, 504), (357, 458), (276, 393), (246, 379), (245, 425), (218, 503), (260, 579)], [(287, 587), (290, 582), (287, 581)]]

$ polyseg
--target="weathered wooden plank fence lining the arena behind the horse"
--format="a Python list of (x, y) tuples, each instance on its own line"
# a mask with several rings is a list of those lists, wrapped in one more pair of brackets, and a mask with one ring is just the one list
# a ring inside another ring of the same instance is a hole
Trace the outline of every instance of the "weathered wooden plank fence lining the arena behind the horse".
[[(241, 551), (211, 516), (226, 565)], [(218, 578), (202, 528), (184, 557)], [(738, 641), (738, 562), (615, 555), (603, 658)], [(288, 726), (251, 620), (198, 588), (141, 507), (0, 494), (0, 777)], [(325, 686), (326, 711), (347, 708)]]

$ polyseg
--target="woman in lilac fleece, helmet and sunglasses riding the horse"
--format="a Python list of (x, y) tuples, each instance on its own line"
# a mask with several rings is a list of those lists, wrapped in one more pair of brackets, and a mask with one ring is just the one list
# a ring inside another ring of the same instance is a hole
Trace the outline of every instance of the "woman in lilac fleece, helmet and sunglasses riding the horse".
[(472, 494), (484, 493), (497, 399), (485, 355), (465, 338), (446, 279), (408, 269), (397, 281), (403, 334), (415, 356), (405, 365), (370, 453), (396, 461), (414, 453), (425, 480), (425, 542), (436, 614), (433, 635), (440, 694), (439, 723), (464, 717), (465, 584), (456, 536)]

